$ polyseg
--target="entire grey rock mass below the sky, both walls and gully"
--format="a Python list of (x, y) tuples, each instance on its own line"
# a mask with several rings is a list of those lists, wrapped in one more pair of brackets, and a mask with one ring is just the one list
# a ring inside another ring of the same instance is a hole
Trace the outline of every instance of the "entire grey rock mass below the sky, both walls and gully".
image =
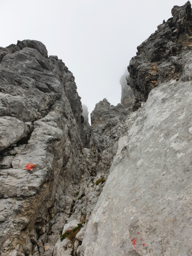
[(172, 15), (91, 127), (44, 44), (0, 47), (1, 256), (191, 255), (190, 2)]

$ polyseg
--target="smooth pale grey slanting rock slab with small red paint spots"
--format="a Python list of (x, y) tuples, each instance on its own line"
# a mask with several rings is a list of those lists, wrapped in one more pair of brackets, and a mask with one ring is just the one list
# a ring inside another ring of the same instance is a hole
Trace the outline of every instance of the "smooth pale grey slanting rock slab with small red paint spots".
[(127, 120), (84, 256), (192, 253), (192, 81), (155, 88)]

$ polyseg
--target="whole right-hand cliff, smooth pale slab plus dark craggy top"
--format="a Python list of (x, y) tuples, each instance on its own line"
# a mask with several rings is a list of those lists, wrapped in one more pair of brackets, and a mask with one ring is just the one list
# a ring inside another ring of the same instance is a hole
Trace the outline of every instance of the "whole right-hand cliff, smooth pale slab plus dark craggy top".
[(130, 61), (133, 108), (140, 108), (125, 121), (81, 256), (192, 254), (189, 1), (174, 6), (172, 15)]

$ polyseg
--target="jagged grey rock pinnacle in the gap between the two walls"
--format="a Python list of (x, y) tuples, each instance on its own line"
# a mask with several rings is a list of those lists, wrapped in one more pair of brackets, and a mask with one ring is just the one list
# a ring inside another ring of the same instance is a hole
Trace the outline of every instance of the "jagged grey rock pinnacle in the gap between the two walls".
[(100, 159), (113, 159), (119, 137), (125, 132), (125, 119), (131, 111), (120, 103), (113, 106), (107, 99), (96, 104), (91, 113), (90, 145), (100, 153)]

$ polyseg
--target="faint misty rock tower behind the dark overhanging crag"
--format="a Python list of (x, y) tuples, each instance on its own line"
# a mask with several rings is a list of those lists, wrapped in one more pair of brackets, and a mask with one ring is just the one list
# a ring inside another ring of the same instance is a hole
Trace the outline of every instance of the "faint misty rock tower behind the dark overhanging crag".
[(135, 96), (134, 96), (133, 90), (127, 84), (127, 80), (126, 80), (127, 76), (129, 76), (129, 73), (125, 71), (125, 74), (122, 75), (119, 83), (121, 84), (121, 104), (123, 104), (126, 108), (129, 108), (133, 106), (133, 102), (135, 101)]

